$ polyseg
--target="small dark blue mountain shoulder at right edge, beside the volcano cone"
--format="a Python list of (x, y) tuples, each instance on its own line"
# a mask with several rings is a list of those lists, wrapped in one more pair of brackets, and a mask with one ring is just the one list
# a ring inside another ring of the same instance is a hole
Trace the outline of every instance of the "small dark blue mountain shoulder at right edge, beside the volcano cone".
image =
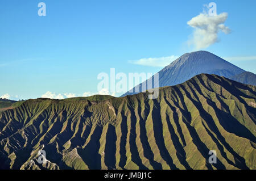
[(232, 77), (229, 77), (229, 78), (237, 82), (242, 82), (242, 83), (256, 86), (256, 75), (249, 71), (245, 71), (241, 74), (233, 75)]

